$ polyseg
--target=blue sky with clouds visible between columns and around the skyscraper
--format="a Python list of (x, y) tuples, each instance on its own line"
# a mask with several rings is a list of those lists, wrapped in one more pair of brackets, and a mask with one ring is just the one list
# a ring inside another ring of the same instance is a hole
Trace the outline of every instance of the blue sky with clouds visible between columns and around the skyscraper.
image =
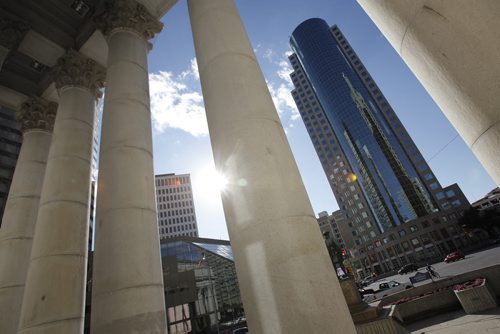
[[(456, 131), (434, 101), (354, 0), (236, 3), (316, 213), (332, 212), (338, 205), (291, 98), (291, 69), (286, 58), (291, 32), (311, 17), (339, 26), (443, 186), (458, 183), (471, 202), (495, 187), (462, 139), (456, 138)], [(149, 56), (155, 173), (190, 173), (200, 236), (227, 239), (222, 205), (214, 186), (212, 150), (186, 1), (179, 1), (162, 21), (165, 26), (152, 41), (154, 47)]]

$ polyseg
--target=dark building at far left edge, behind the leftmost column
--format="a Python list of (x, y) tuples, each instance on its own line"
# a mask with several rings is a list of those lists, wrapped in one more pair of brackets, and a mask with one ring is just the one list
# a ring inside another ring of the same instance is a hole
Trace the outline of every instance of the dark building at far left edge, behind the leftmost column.
[(22, 141), (14, 112), (0, 107), (0, 227)]

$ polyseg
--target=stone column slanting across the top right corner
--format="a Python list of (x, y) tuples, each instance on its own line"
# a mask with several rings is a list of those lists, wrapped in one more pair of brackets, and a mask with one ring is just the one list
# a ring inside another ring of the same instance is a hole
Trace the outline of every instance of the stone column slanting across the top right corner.
[(358, 2), (500, 185), (500, 2)]

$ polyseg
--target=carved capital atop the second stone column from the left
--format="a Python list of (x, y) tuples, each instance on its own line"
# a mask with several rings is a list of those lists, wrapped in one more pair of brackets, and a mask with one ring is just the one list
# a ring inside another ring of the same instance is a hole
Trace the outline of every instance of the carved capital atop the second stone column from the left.
[(81, 86), (100, 98), (106, 79), (106, 70), (94, 60), (75, 50), (68, 50), (52, 68), (52, 76), (57, 89), (65, 86)]

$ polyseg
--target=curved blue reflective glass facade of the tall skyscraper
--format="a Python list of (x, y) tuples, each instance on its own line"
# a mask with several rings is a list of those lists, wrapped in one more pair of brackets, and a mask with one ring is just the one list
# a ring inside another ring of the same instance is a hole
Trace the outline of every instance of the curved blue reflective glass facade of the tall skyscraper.
[(321, 19), (303, 22), (290, 44), (352, 169), (351, 181), (359, 186), (380, 231), (436, 211), (410, 152), (328, 24)]

